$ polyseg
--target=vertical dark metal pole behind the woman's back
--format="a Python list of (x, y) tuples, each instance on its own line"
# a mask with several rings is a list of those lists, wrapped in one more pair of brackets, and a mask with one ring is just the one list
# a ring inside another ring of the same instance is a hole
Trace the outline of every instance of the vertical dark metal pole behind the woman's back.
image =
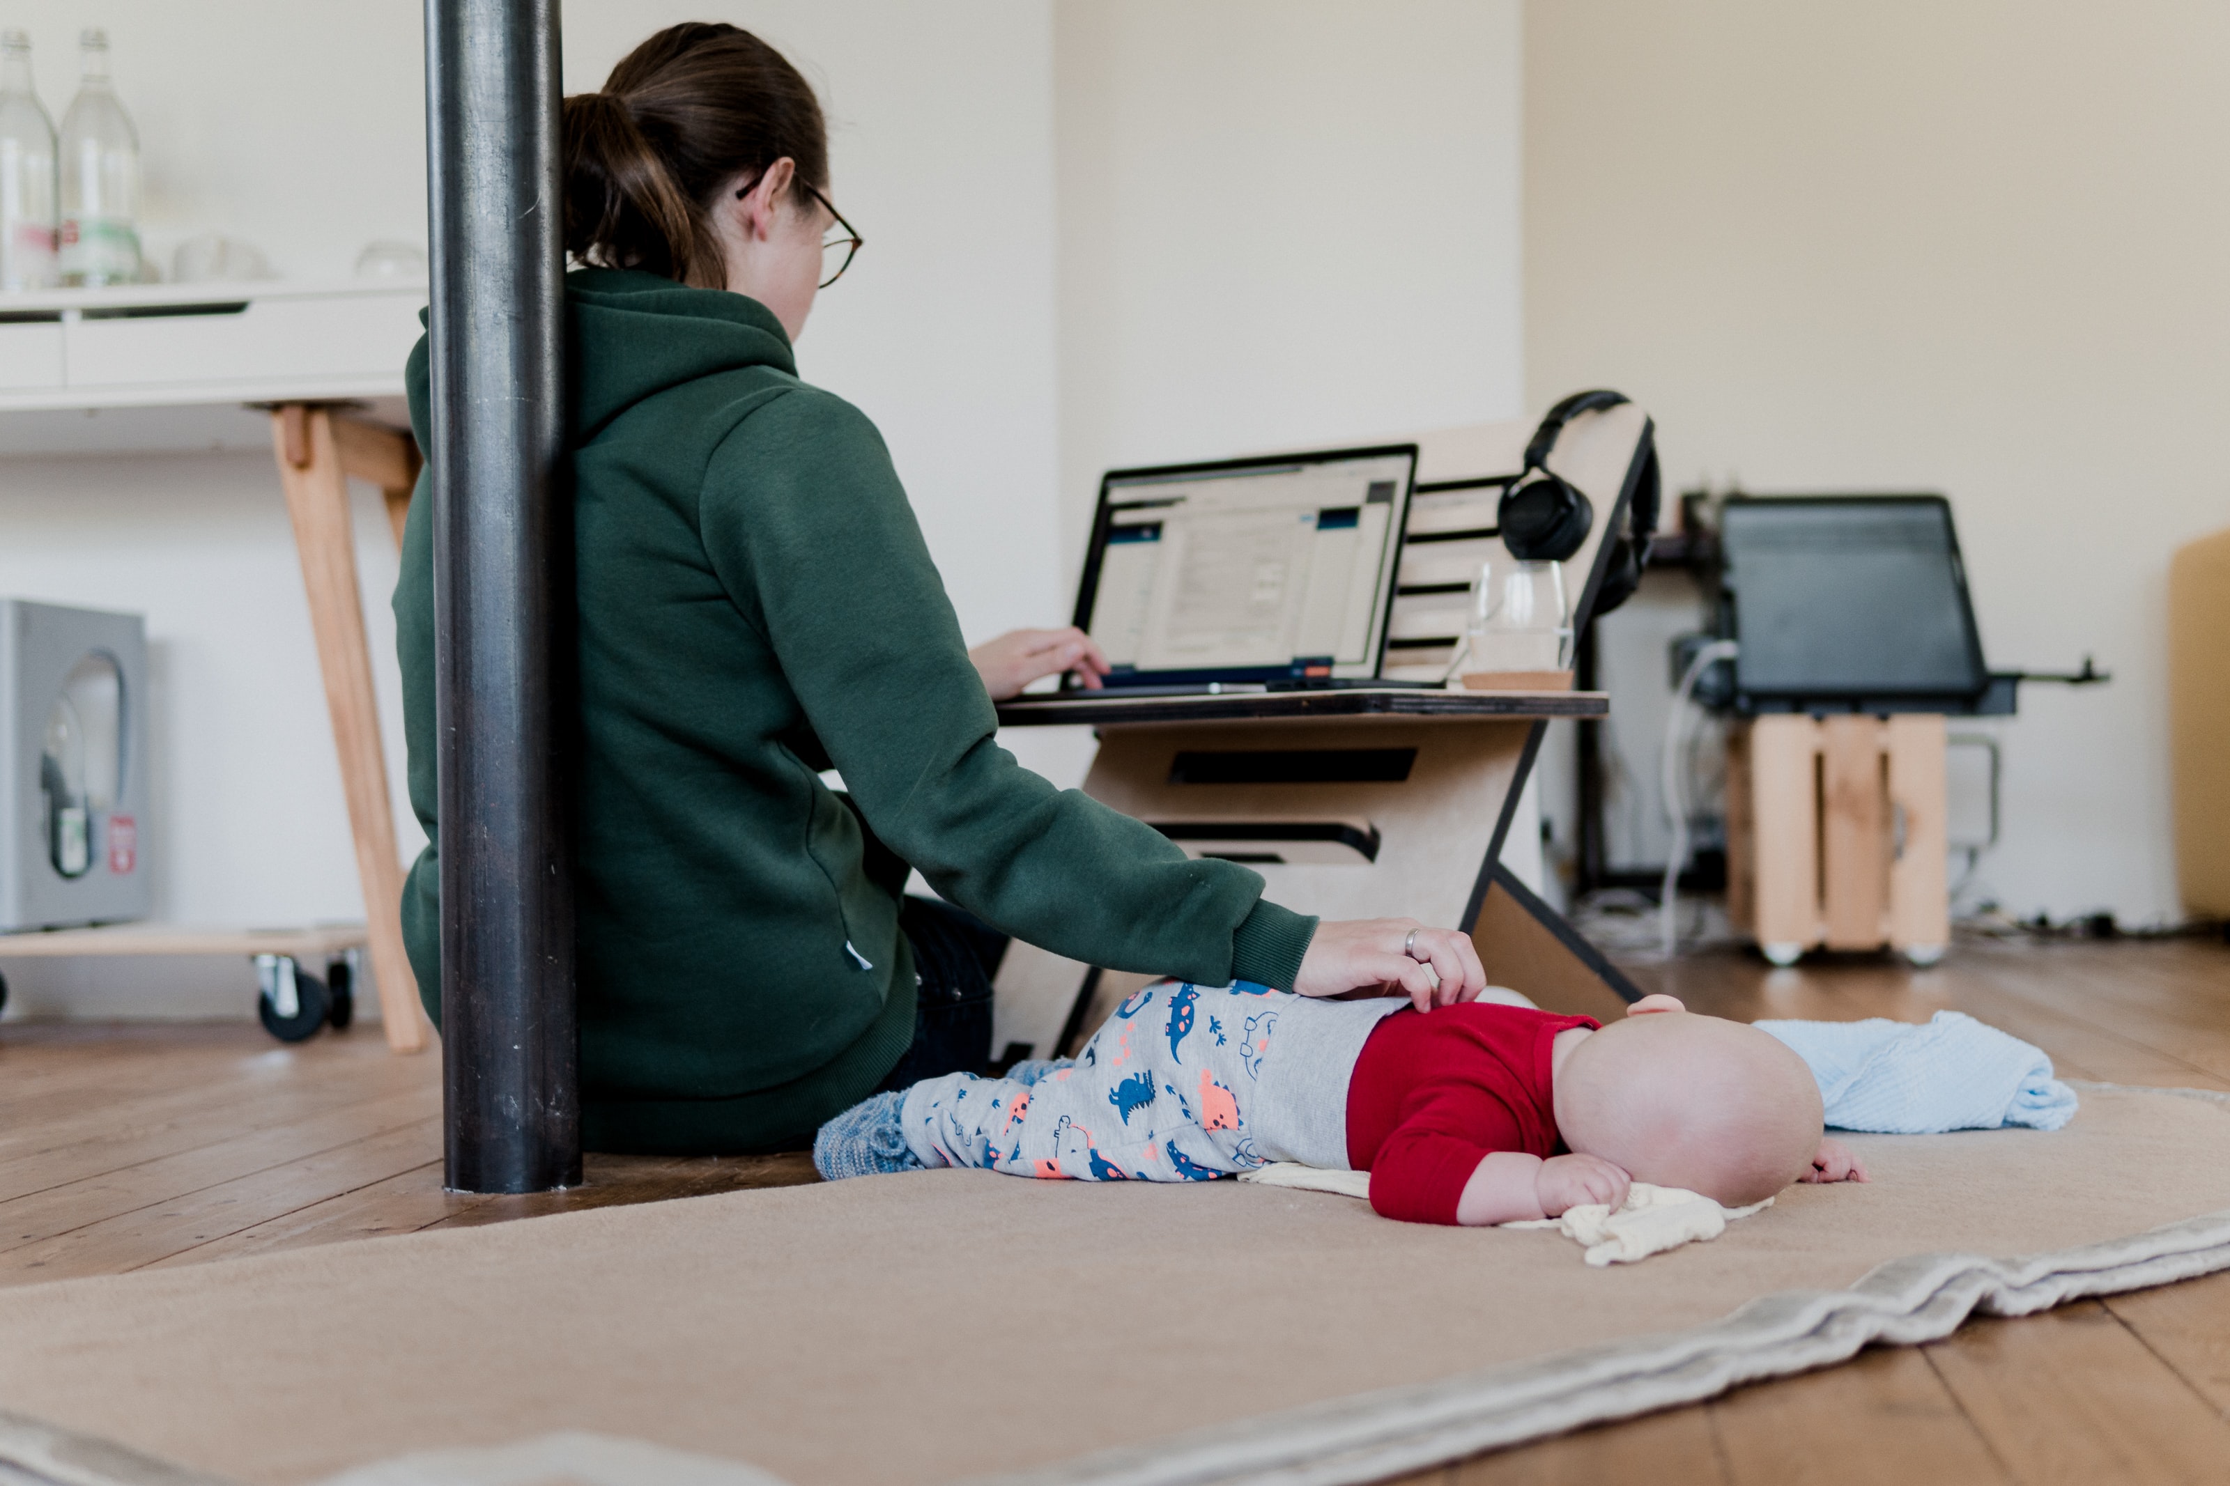
[(580, 1183), (558, 0), (426, 0), (448, 1185)]

